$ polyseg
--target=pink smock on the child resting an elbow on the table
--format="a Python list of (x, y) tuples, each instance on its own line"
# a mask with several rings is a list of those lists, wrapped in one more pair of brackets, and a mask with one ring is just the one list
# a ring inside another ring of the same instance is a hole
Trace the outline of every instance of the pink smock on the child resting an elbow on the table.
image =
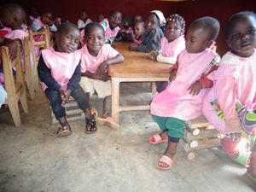
[(88, 52), (87, 46), (84, 45), (81, 51), (81, 72), (85, 73), (96, 73), (97, 68), (102, 64), (103, 61), (111, 59), (119, 54), (116, 49), (113, 49), (110, 44), (103, 44), (98, 55), (93, 56)]

